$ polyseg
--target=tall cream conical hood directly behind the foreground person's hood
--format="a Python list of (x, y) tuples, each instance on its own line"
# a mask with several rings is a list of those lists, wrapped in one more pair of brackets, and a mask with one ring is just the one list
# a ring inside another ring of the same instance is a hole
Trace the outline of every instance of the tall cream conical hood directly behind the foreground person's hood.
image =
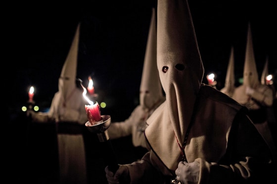
[(152, 107), (160, 101), (160, 99), (164, 98), (157, 68), (156, 30), (155, 9), (152, 8), (152, 16), (140, 82), (140, 105), (147, 109), (152, 109)]

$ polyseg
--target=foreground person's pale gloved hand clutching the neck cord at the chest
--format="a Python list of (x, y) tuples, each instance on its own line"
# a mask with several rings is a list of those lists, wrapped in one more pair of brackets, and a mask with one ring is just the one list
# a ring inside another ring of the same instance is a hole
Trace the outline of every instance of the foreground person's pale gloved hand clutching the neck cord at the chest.
[(179, 162), (178, 168), (175, 171), (177, 181), (182, 184), (197, 183), (199, 180), (200, 164), (199, 162)]

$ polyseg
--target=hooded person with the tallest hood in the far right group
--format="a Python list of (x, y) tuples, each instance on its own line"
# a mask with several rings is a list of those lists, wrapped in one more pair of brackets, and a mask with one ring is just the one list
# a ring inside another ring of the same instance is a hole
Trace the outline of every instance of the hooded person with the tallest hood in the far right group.
[(268, 125), (268, 121), (272, 119), (271, 115), (273, 115), (268, 113), (268, 108), (273, 106), (274, 91), (268, 85), (259, 81), (250, 23), (248, 24), (247, 32), (243, 83), (234, 90), (232, 98), (248, 108), (250, 119), (270, 145), (274, 158), (277, 160), (277, 147), (276, 143), (274, 143), (276, 140), (273, 140), (273, 135)]

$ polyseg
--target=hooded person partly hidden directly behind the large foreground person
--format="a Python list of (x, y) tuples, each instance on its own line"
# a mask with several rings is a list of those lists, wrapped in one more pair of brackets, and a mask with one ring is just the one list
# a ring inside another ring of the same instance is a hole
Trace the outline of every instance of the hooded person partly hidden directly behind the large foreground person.
[[(139, 106), (133, 110), (128, 119), (111, 123), (108, 132), (110, 139), (132, 135), (135, 147), (146, 147), (144, 129), (146, 119), (165, 101), (157, 70), (157, 35), (155, 9), (152, 9), (144, 64), (140, 82)], [(143, 149), (143, 154), (145, 149)], [(139, 156), (141, 158), (141, 155)]]

